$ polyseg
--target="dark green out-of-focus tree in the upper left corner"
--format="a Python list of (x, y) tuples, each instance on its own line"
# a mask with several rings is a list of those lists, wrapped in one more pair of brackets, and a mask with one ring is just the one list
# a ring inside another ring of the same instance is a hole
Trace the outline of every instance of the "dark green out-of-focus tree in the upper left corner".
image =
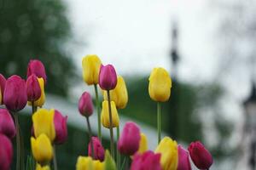
[(61, 0), (0, 0), (0, 73), (26, 77), (30, 59), (40, 59), (50, 80), (46, 91), (66, 96), (73, 60), (66, 7)]

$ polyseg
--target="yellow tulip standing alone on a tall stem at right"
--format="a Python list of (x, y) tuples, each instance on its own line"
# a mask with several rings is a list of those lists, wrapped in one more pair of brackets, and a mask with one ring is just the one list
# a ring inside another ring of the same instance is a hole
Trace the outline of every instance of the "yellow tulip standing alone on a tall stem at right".
[(164, 68), (154, 68), (148, 80), (148, 93), (151, 99), (165, 102), (170, 98), (172, 79)]

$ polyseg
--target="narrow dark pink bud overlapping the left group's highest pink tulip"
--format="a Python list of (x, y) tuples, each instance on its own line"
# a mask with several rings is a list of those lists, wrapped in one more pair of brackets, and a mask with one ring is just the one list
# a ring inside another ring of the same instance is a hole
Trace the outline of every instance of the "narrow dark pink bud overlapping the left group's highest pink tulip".
[(35, 101), (41, 96), (41, 88), (38, 82), (38, 77), (32, 74), (26, 80), (26, 94), (28, 101)]

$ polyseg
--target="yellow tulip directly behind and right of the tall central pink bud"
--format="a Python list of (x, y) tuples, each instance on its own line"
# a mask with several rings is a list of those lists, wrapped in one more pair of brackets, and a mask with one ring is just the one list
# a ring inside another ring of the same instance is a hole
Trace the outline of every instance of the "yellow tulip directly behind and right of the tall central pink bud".
[[(108, 100), (107, 91), (103, 91), (104, 99)], [(110, 90), (110, 99), (115, 103), (118, 109), (124, 109), (128, 102), (128, 93), (123, 77), (118, 77), (117, 85)]]

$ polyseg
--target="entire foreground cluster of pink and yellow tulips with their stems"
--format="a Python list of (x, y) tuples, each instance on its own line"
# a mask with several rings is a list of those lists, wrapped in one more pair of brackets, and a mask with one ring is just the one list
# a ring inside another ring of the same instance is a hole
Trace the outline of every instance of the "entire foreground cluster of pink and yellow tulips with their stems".
[[(113, 65), (102, 65), (95, 54), (87, 55), (82, 61), (84, 82), (94, 86), (97, 112), (97, 134), (91, 132), (90, 116), (94, 112), (93, 101), (88, 92), (79, 99), (79, 112), (84, 116), (90, 142), (87, 156), (79, 156), (77, 170), (190, 170), (190, 159), (199, 169), (210, 169), (212, 156), (201, 142), (189, 144), (185, 150), (170, 137), (161, 137), (161, 108), (171, 95), (172, 80), (163, 68), (154, 68), (149, 77), (148, 93), (157, 103), (158, 143), (154, 151), (148, 150), (147, 136), (135, 122), (126, 122), (119, 133), (118, 110), (125, 109), (128, 93), (125, 80), (117, 76)], [(0, 74), (0, 169), (8, 170), (13, 157), (11, 139), (16, 136), (16, 169), (24, 169), (23, 139), (20, 135), (18, 112), (26, 105), (32, 108), (31, 150), (36, 166), (32, 169), (57, 169), (55, 145), (67, 140), (67, 116), (60, 111), (43, 109), (46, 74), (41, 61), (31, 60), (27, 67), (26, 81), (19, 76), (7, 80)], [(102, 90), (103, 101), (98, 94)], [(102, 127), (109, 129), (110, 150), (102, 146)], [(114, 139), (113, 133), (116, 133)], [(85, 154), (84, 154), (85, 155)]]

